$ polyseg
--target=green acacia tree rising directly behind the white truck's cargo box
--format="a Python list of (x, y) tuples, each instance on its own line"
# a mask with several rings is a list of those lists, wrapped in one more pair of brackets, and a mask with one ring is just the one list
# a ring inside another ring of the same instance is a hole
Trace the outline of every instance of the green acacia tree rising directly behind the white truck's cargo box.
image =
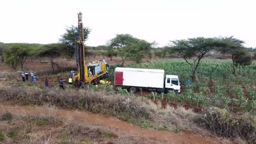
[(144, 57), (143, 53), (150, 52), (152, 46), (146, 40), (137, 39), (130, 34), (117, 34), (115, 38), (109, 40), (108, 45), (118, 50), (118, 55), (122, 58), (122, 67), (127, 59), (139, 63)]

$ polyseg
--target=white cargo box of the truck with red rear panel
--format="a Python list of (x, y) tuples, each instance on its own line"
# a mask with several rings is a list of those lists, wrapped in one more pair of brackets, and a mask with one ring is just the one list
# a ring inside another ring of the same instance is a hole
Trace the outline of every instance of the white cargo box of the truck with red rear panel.
[(165, 71), (161, 69), (115, 68), (115, 85), (164, 88)]

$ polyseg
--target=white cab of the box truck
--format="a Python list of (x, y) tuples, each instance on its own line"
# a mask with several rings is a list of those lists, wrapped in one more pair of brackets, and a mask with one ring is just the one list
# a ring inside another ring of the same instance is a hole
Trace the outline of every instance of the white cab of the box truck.
[(176, 93), (180, 93), (181, 85), (179, 82), (179, 77), (177, 75), (166, 75), (165, 89), (166, 91), (174, 91)]

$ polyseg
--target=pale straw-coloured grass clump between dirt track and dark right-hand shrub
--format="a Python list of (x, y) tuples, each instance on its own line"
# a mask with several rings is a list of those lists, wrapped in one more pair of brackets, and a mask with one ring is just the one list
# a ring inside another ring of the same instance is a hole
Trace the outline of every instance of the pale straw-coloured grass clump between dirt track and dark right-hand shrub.
[(179, 133), (184, 129), (194, 131), (195, 133), (203, 133), (208, 135), (208, 131), (198, 127), (193, 121), (200, 117), (199, 114), (194, 113), (191, 109), (184, 109), (182, 106), (174, 108), (167, 105), (165, 109), (161, 104), (155, 104), (151, 100), (144, 100), (143, 106), (155, 113), (153, 120), (158, 125), (159, 130), (168, 130), (174, 133)]

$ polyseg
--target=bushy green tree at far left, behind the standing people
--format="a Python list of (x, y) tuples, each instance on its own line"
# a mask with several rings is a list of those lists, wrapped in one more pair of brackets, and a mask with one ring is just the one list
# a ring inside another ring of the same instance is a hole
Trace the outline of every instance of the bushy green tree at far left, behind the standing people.
[(10, 48), (4, 51), (5, 63), (10, 65), (13, 69), (16, 69), (20, 64), (21, 69), (26, 62), (32, 47), (28, 44), (11, 44)]

